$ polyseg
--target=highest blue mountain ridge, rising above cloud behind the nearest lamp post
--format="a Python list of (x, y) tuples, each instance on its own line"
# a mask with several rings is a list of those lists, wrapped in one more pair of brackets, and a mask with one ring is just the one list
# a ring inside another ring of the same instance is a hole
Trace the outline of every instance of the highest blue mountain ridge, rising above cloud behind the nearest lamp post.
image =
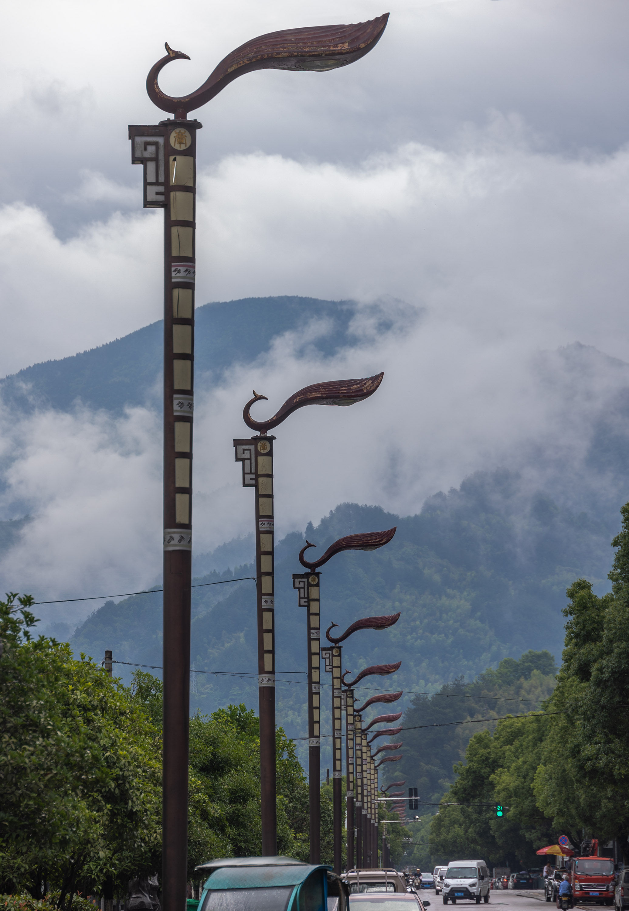
[[(195, 312), (196, 383), (217, 382), (237, 363), (253, 362), (269, 350), (274, 338), (299, 333), (304, 344), (331, 356), (359, 339), (352, 329), (357, 305), (310, 297), (247, 298), (207, 303)], [(364, 311), (365, 308), (363, 308)], [(416, 318), (415, 308), (371, 308), (376, 329), (385, 333), (402, 316)], [(318, 332), (308, 333), (318, 323)], [(135, 333), (90, 351), (26, 367), (0, 380), (8, 407), (36, 405), (67, 411), (78, 399), (92, 408), (120, 412), (125, 405), (161, 407), (164, 322), (152, 322)]]

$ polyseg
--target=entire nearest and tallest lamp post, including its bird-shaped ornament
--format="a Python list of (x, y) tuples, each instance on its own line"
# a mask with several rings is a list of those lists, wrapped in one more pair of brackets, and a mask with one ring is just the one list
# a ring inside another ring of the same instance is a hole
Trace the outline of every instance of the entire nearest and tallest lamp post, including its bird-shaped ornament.
[[(228, 83), (257, 69), (325, 71), (368, 54), (388, 15), (350, 26), (297, 28), (259, 36), (228, 54), (195, 92), (169, 97), (157, 77), (147, 93), (174, 115), (151, 126), (130, 126), (131, 160), (144, 165), (144, 206), (164, 210), (164, 759), (162, 905), (178, 911), (186, 896), (188, 850), (188, 714), (192, 549), (192, 415), (196, 277), (196, 143), (198, 120), (188, 119)], [(265, 845), (275, 853), (267, 827)]]

